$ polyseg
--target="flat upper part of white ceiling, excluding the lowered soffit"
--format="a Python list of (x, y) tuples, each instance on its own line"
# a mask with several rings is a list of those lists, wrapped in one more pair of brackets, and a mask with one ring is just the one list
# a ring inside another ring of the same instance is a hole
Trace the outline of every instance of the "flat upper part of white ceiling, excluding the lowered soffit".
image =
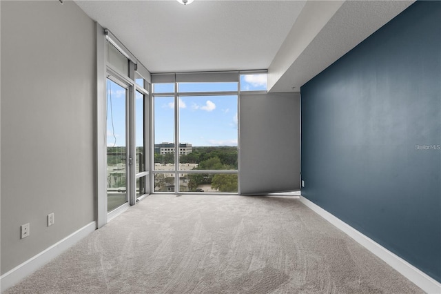
[(76, 1), (151, 72), (266, 69), (305, 1)]

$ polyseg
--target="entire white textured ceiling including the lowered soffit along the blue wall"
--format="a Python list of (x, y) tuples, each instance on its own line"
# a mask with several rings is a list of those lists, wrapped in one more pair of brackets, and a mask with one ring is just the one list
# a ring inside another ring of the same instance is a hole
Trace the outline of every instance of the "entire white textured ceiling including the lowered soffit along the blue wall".
[(75, 2), (150, 72), (268, 69), (271, 92), (287, 92), (300, 90), (413, 1)]

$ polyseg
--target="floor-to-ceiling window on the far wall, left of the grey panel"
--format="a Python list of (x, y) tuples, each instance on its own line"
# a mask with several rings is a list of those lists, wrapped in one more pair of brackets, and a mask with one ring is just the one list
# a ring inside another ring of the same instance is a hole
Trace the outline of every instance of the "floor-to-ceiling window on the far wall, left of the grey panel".
[(155, 192), (238, 192), (238, 72), (156, 75)]

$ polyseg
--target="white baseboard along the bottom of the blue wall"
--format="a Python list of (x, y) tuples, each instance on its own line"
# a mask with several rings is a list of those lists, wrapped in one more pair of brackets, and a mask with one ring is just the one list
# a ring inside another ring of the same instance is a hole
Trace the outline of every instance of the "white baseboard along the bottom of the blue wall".
[(380, 257), (380, 259), (389, 264), (389, 266), (392, 266), (392, 268), (404, 275), (404, 277), (407, 277), (407, 279), (413, 282), (413, 284), (416, 284), (416, 286), (422, 288), (423, 291), (433, 294), (441, 293), (441, 284), (438, 281), (434, 280), (432, 277), (429, 277), (429, 275), (423, 273), (415, 266), (409, 264), (409, 262), (406, 262), (398, 255), (391, 253), (391, 251), (376, 243), (373, 241), (373, 239), (363, 235), (355, 228), (352, 228), (345, 222), (342, 222), (342, 220), (338, 219), (334, 215), (331, 215), (331, 213), (328, 213), (325, 209), (321, 208), (317, 204), (314, 204), (305, 197), (300, 196), (300, 202), (339, 228), (341, 231), (343, 231), (343, 233), (346, 233), (349, 237), (356, 240), (356, 242), (367, 248), (367, 250), (371, 251), (371, 253)]

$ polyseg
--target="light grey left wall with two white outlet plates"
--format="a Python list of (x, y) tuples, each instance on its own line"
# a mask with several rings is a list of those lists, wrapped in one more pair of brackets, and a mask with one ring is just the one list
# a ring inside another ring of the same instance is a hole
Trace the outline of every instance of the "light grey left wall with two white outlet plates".
[(95, 219), (95, 64), (75, 3), (1, 1), (1, 274)]

